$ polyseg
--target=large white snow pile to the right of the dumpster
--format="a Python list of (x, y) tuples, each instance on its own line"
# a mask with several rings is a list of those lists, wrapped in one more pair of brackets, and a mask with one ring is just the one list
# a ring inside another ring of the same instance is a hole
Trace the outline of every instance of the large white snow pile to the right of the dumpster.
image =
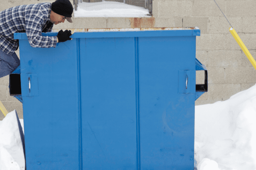
[(195, 107), (198, 170), (256, 169), (256, 85), (226, 101)]

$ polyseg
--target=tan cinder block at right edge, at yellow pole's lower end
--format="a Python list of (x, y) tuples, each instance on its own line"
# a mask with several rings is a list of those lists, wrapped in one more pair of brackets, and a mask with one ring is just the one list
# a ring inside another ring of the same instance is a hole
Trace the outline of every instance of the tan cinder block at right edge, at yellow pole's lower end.
[(225, 83), (256, 83), (254, 67), (224, 67)]

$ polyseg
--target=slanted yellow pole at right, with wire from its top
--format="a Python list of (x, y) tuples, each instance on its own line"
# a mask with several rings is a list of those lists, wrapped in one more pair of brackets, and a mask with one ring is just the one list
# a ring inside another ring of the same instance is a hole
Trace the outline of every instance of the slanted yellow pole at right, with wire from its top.
[(256, 69), (256, 61), (254, 60), (254, 58), (252, 57), (251, 53), (246, 48), (246, 46), (244, 45), (244, 43), (242, 42), (240, 37), (236, 34), (236, 31), (234, 30), (234, 28), (230, 27), (229, 31), (232, 34), (232, 36), (235, 38), (235, 40), (238, 43), (238, 45), (242, 48), (242, 50), (244, 51), (244, 53), (247, 56), (247, 58), (249, 59), (249, 61), (252, 63), (252, 66), (254, 67), (254, 69)]

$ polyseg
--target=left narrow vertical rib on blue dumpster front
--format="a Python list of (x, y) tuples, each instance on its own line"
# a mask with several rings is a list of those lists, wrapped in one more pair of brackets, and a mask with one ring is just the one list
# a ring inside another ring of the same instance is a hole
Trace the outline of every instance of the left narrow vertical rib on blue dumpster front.
[(81, 106), (81, 62), (80, 62), (80, 38), (77, 38), (77, 79), (78, 79), (78, 125), (79, 125), (79, 138), (78, 138), (78, 166), (79, 170), (83, 170), (83, 148), (82, 148), (82, 106)]

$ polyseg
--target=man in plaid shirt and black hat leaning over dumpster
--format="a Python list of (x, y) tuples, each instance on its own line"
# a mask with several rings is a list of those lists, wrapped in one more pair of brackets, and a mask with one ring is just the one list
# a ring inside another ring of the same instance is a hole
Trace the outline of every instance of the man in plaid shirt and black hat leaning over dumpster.
[(51, 3), (21, 5), (0, 12), (0, 78), (11, 74), (19, 65), (20, 59), (14, 51), (19, 47), (14, 33), (26, 32), (32, 47), (56, 47), (56, 43), (71, 40), (71, 31), (60, 30), (57, 36), (42, 36), (51, 32), (53, 25), (67, 19), (72, 22), (73, 6), (69, 0), (56, 0)]

